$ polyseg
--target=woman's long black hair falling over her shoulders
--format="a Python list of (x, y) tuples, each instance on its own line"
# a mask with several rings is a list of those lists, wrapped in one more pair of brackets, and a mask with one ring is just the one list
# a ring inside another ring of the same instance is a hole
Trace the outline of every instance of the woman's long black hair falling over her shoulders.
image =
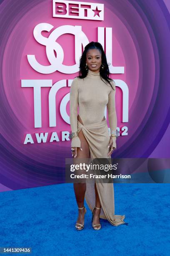
[[(90, 50), (90, 49), (97, 49), (97, 50), (100, 51), (100, 53), (102, 55), (102, 65), (104, 66), (103, 69), (102, 69), (102, 67), (100, 67), (100, 78), (105, 79), (105, 81), (107, 81), (112, 87), (112, 84), (110, 83), (110, 81), (113, 81), (113, 80), (109, 77), (110, 72), (109, 72), (109, 67), (108, 67), (108, 64), (107, 64), (106, 55), (105, 55), (105, 52), (102, 48), (102, 45), (98, 42), (93, 42), (92, 41), (92, 42), (90, 42), (89, 44), (87, 44), (85, 46), (85, 49), (82, 53), (82, 56), (80, 57), (80, 67), (79, 67), (80, 70), (79, 70), (79, 75), (77, 77), (82, 79), (82, 78), (85, 78), (87, 76), (88, 70), (85, 69), (86, 54), (87, 54), (87, 51)], [(113, 88), (113, 90), (115, 90), (115, 89)]]

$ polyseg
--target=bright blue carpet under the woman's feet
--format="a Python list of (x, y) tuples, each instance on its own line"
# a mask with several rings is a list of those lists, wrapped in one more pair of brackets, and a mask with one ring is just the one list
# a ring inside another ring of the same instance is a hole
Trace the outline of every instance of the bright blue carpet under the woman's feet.
[(85, 228), (75, 229), (73, 184), (1, 192), (0, 247), (32, 247), (23, 255), (33, 256), (170, 255), (170, 184), (114, 184), (114, 190), (115, 214), (125, 214), (128, 225), (101, 219), (99, 231), (88, 207)]

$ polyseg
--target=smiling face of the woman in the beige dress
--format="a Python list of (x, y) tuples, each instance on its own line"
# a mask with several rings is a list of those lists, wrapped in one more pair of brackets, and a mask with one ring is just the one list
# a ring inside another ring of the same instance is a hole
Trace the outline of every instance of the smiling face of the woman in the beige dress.
[(98, 49), (90, 49), (86, 53), (86, 62), (88, 68), (93, 72), (100, 72), (102, 64), (102, 55)]

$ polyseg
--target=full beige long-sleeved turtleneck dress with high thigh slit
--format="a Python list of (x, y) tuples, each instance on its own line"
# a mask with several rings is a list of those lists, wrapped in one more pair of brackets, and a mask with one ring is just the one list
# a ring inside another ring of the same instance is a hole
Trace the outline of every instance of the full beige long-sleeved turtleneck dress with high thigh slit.
[[(107, 106), (108, 119), (111, 133), (116, 132), (117, 116), (115, 111), (115, 82), (110, 82), (112, 87), (104, 79), (100, 72), (88, 70), (84, 79), (75, 77), (70, 88), (70, 125), (72, 131), (78, 133), (82, 130), (90, 149), (90, 161), (95, 158), (107, 158), (110, 148), (110, 134), (105, 116)], [(82, 123), (77, 120), (77, 106)], [(116, 138), (112, 137), (113, 146), (116, 148)], [(81, 147), (78, 136), (72, 138), (71, 147)], [(83, 150), (83, 148), (82, 148)], [(95, 183), (100, 199), (100, 218), (108, 220), (112, 225), (125, 224), (125, 215), (115, 215), (114, 187), (113, 183), (87, 182), (85, 200), (92, 211), (95, 207)]]

